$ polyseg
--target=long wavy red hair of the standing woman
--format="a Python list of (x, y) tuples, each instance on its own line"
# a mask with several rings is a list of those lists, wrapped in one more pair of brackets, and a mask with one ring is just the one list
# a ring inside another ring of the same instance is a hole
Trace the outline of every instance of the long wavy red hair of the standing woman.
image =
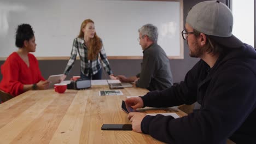
[[(89, 22), (94, 23), (94, 21), (92, 21), (91, 19), (87, 19), (82, 22), (78, 38), (82, 38), (82, 39), (84, 38), (84, 32), (82, 31), (82, 29), (86, 27), (87, 23)], [(101, 48), (102, 48), (101, 39), (100, 37), (98, 37), (98, 35), (95, 32), (94, 38), (89, 40), (88, 53), (87, 53), (88, 59), (89, 60), (96, 59), (98, 56), (98, 53), (101, 51)]]

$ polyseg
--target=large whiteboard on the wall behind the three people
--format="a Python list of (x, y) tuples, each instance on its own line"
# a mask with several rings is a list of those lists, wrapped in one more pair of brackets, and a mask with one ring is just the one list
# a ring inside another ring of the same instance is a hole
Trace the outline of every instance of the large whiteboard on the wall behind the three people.
[(37, 48), (33, 54), (36, 57), (70, 56), (81, 23), (92, 19), (107, 56), (143, 56), (137, 41), (138, 29), (152, 23), (159, 29), (158, 44), (167, 56), (183, 58), (181, 11), (179, 1), (0, 2), (0, 57), (8, 57), (17, 50), (15, 31), (21, 23), (29, 23), (34, 29)]

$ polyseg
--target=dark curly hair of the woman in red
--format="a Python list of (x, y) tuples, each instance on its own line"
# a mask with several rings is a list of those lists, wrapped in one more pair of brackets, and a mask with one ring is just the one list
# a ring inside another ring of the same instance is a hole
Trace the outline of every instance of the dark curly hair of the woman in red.
[(34, 37), (33, 28), (29, 24), (21, 24), (16, 30), (15, 45), (17, 47), (23, 47), (25, 40), (30, 40)]

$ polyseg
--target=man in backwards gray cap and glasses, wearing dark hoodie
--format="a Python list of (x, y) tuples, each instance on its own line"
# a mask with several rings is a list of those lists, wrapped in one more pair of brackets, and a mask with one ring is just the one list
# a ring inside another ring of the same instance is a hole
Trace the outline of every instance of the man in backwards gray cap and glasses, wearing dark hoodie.
[(188, 116), (130, 112), (132, 129), (166, 143), (256, 143), (256, 52), (232, 35), (230, 9), (219, 1), (196, 4), (182, 37), (201, 58), (184, 81), (164, 91), (125, 100), (133, 109), (201, 104)]

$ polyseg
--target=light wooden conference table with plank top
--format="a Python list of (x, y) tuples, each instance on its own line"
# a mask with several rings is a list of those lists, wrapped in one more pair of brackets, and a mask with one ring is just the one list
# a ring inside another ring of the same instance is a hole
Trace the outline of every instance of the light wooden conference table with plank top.
[[(108, 86), (68, 90), (28, 91), (0, 105), (0, 143), (161, 143), (135, 131), (101, 130), (104, 123), (130, 124), (121, 110), (126, 96), (144, 95), (142, 88), (121, 89), (124, 95), (99, 96)], [(146, 113), (176, 112), (150, 109)]]

